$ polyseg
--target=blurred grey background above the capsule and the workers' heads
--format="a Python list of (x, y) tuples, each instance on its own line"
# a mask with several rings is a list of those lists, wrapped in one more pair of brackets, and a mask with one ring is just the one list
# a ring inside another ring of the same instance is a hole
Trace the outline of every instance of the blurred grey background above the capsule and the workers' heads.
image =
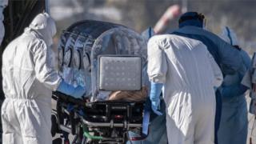
[[(205, 14), (207, 30), (220, 34), (229, 26), (237, 34), (240, 45), (253, 54), (256, 50), (255, 0), (50, 0), (50, 14), (57, 21), (59, 34), (74, 22), (94, 19), (120, 23), (138, 33), (154, 27), (170, 6), (178, 5), (181, 13), (175, 14), (165, 30), (178, 28), (182, 12), (197, 11)], [(165, 30), (162, 30), (164, 32)]]

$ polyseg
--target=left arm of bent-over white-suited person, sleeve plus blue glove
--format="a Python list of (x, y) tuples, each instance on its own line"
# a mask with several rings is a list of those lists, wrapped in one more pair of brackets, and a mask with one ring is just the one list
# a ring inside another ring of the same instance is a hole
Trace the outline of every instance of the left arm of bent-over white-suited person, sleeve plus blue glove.
[(166, 47), (170, 46), (170, 43), (166, 40), (165, 36), (158, 35), (150, 38), (147, 46), (147, 74), (149, 75), (151, 82), (151, 108), (155, 114), (161, 115), (162, 113), (158, 111), (158, 106), (160, 103), (159, 96), (162, 90), (162, 85), (166, 82), (166, 73), (168, 70), (164, 50)]

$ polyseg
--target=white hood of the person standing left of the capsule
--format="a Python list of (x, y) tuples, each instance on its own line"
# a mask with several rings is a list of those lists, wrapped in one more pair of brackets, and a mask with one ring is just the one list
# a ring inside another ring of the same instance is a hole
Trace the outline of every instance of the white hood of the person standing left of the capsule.
[(47, 46), (53, 44), (53, 36), (56, 34), (54, 19), (47, 13), (38, 14), (30, 23), (30, 29), (40, 34)]

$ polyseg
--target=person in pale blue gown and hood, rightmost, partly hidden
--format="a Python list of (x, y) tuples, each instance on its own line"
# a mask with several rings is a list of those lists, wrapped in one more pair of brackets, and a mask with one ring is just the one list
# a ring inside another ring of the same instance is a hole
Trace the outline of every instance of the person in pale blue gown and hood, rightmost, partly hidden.
[[(221, 38), (234, 49), (238, 49), (242, 55), (246, 69), (250, 69), (250, 57), (238, 44), (238, 38), (228, 27), (222, 30)], [(222, 95), (222, 117), (218, 130), (218, 144), (246, 144), (248, 119), (246, 103), (246, 86), (240, 82), (242, 75), (238, 72), (225, 76), (220, 87)]]

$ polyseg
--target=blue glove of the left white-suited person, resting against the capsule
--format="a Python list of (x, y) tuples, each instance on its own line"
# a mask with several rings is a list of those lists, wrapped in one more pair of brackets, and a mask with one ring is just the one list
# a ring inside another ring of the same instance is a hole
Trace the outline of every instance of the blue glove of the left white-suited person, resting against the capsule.
[(70, 95), (74, 98), (81, 98), (83, 94), (86, 93), (86, 89), (82, 86), (74, 87), (66, 82), (62, 81), (58, 86), (57, 91), (62, 92), (63, 94)]

